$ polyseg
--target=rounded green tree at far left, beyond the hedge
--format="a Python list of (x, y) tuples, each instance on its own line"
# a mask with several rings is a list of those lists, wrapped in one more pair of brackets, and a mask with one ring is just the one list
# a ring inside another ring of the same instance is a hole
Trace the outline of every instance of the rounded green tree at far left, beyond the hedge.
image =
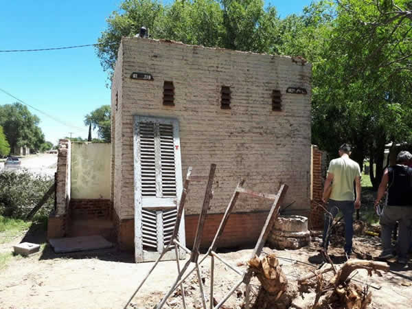
[(38, 150), (45, 141), (39, 123), (40, 119), (21, 103), (0, 106), (0, 126), (12, 150), (22, 146)]

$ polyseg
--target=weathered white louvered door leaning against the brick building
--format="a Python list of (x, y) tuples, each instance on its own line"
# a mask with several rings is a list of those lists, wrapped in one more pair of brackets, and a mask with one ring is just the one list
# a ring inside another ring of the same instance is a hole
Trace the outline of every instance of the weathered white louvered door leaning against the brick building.
[[(135, 255), (157, 258), (172, 236), (182, 192), (176, 119), (135, 116)], [(184, 242), (184, 220), (179, 229)], [(157, 254), (156, 254), (157, 253)]]

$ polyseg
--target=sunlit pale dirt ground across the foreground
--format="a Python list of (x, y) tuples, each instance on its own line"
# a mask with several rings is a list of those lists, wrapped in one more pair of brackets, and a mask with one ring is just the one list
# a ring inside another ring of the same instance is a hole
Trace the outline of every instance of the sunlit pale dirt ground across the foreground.
[[(45, 231), (35, 226), (20, 238), (1, 245), (1, 251), (12, 249), (12, 244), (21, 240), (43, 243)], [(264, 254), (275, 253), (279, 257), (282, 270), (290, 284), (296, 284), (297, 278), (320, 266), (321, 255), (319, 238), (299, 250), (272, 250), (264, 248)], [(332, 238), (330, 256), (336, 266), (345, 262), (340, 237)], [(354, 251), (358, 257), (370, 258), (378, 255), (379, 238), (373, 236), (355, 236)], [(232, 265), (246, 269), (252, 249), (240, 251), (220, 251), (221, 257)], [(298, 260), (301, 262), (295, 262)], [(181, 261), (183, 264), (183, 261)], [(402, 267), (389, 263), (391, 271), (382, 277), (367, 277), (366, 271), (358, 271), (353, 278), (362, 285), (369, 284), (373, 293), (370, 308), (411, 308), (412, 299), (412, 265)], [(133, 255), (122, 253), (117, 249), (58, 255), (45, 246), (41, 253), (29, 258), (13, 257), (8, 265), (0, 271), (0, 308), (123, 308), (133, 295), (141, 279), (146, 275), (152, 263), (135, 264)], [(205, 293), (209, 293), (209, 258), (201, 264)], [(141, 288), (128, 308), (152, 308), (168, 290), (176, 277), (176, 262), (161, 262), (148, 281)], [(224, 264), (216, 261), (215, 266), (215, 298), (223, 295), (238, 282), (240, 276)], [(257, 285), (256, 279), (253, 284)], [(253, 292), (257, 286), (253, 286)], [(225, 308), (241, 308), (244, 286), (227, 301)], [(182, 308), (178, 290), (168, 300), (165, 308)], [(187, 308), (201, 308), (197, 279), (191, 276), (185, 282)], [(310, 308), (314, 293), (297, 297), (293, 303), (301, 308)]]

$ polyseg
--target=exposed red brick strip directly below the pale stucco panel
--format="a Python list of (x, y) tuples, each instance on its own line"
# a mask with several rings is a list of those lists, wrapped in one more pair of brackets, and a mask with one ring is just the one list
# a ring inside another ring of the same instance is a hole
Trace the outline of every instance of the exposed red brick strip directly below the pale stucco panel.
[(113, 202), (104, 198), (71, 198), (70, 214), (73, 219), (110, 219)]

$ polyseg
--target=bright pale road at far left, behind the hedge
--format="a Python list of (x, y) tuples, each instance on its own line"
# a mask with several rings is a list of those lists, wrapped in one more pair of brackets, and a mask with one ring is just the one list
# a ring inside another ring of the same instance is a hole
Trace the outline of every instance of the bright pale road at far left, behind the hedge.
[[(3, 163), (0, 163), (3, 164)], [(0, 169), (3, 168), (0, 165)], [(56, 154), (39, 154), (23, 157), (21, 159), (21, 168), (29, 170), (33, 174), (40, 174), (43, 176), (54, 176), (57, 168)]]

